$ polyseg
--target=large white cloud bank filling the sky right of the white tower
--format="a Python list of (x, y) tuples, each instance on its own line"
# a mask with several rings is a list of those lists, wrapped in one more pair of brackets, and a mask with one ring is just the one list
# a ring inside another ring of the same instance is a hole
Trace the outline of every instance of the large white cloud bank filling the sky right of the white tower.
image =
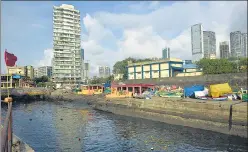
[[(129, 9), (149, 10), (143, 14), (133, 11), (86, 14), (82, 47), (85, 59), (90, 60), (91, 74), (97, 75), (100, 65), (113, 66), (127, 57), (161, 57), (165, 46), (171, 48), (172, 57), (191, 59), (190, 26), (193, 24), (202, 23), (204, 30), (216, 33), (217, 55), (219, 42), (229, 41), (231, 31), (247, 31), (247, 2), (244, 1), (163, 4), (140, 2), (130, 5)], [(116, 34), (116, 30), (121, 34)]]

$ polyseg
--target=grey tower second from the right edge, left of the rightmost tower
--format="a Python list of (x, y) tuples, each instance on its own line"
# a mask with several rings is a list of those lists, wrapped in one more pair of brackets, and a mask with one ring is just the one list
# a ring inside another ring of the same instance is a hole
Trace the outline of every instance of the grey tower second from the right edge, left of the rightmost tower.
[(241, 50), (241, 32), (235, 31), (230, 33), (230, 48), (232, 57), (241, 57), (243, 51)]

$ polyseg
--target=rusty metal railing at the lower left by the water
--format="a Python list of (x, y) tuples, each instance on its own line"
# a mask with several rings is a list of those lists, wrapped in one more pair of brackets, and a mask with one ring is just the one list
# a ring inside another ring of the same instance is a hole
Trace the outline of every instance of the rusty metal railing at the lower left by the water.
[(12, 152), (12, 102), (8, 102), (8, 112), (1, 134), (1, 152)]

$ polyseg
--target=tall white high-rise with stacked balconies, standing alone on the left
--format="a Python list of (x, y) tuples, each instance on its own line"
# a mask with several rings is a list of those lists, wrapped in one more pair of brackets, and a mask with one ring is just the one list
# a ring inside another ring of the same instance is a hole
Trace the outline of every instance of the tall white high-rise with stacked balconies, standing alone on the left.
[(54, 82), (81, 82), (80, 12), (72, 5), (53, 8), (53, 51)]

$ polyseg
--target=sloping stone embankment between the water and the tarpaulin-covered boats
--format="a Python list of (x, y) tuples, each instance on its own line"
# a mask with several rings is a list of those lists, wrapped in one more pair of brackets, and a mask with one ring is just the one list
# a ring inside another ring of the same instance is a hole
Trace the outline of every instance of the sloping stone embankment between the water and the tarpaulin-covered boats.
[(247, 138), (247, 103), (193, 99), (101, 99), (97, 110)]

